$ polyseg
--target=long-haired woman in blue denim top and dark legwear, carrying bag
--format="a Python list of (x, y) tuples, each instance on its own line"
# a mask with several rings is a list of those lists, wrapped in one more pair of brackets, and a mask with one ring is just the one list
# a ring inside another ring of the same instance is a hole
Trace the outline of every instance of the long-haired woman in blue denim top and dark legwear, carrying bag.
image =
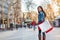
[[(44, 12), (44, 10), (43, 10), (43, 8), (41, 7), (41, 6), (38, 6), (38, 24), (41, 24), (41, 23), (43, 23), (44, 22), (44, 20), (45, 20), (45, 17), (46, 17), (46, 14), (45, 14), (45, 12)], [(39, 30), (39, 35), (38, 35), (38, 37), (39, 37), (39, 40), (41, 40), (41, 29), (40, 29), (40, 27), (38, 27), (38, 30)], [(42, 32), (42, 34), (43, 34), (43, 40), (45, 40), (45, 37), (46, 37), (46, 35), (45, 35), (45, 32)]]

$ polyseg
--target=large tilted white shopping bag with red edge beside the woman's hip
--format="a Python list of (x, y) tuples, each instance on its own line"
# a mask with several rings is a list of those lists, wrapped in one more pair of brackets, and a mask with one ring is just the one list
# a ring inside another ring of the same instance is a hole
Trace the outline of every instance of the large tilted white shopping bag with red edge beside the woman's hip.
[(50, 32), (53, 29), (53, 26), (49, 23), (48, 20), (45, 20), (42, 24), (38, 25), (42, 32)]

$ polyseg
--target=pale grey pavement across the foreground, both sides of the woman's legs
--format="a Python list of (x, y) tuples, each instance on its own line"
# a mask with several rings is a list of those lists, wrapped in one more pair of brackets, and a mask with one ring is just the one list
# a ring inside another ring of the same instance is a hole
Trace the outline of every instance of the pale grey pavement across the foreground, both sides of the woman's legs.
[[(60, 28), (54, 28), (46, 34), (46, 40), (60, 40)], [(0, 40), (38, 40), (38, 30), (19, 28), (13, 31), (0, 32)]]

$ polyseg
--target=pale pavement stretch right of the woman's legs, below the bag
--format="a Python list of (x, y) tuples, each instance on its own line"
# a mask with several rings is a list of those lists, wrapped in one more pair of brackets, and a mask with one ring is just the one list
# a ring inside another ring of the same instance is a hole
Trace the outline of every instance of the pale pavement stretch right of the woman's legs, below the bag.
[(53, 31), (47, 34), (47, 40), (60, 40), (60, 28), (54, 28)]

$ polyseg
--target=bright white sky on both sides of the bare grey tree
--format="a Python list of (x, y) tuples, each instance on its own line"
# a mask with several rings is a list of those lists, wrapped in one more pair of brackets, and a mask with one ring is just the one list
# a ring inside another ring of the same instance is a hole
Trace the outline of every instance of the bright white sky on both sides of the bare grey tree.
[[(27, 10), (26, 10), (26, 4), (24, 3), (25, 2), (25, 0), (22, 0), (22, 2), (21, 2), (21, 4), (22, 4), (22, 8), (21, 8), (21, 10), (22, 10), (22, 12), (26, 12)], [(32, 1), (33, 3), (35, 3), (37, 6), (35, 6), (35, 8), (33, 9), (33, 11), (37, 11), (37, 7), (38, 6), (42, 6), (42, 7), (45, 7), (46, 6), (46, 4), (48, 4), (48, 3), (50, 3), (50, 0), (33, 0)], [(31, 10), (32, 11), (32, 10)]]

